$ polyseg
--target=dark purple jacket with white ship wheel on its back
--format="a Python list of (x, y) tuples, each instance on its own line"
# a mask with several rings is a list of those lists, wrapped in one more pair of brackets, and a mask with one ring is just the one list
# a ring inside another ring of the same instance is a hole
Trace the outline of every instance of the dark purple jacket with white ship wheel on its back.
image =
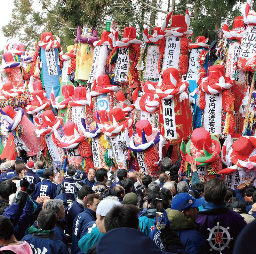
[(231, 254), (238, 234), (246, 225), (244, 218), (223, 205), (205, 201), (199, 211), (196, 229), (206, 239), (206, 253)]

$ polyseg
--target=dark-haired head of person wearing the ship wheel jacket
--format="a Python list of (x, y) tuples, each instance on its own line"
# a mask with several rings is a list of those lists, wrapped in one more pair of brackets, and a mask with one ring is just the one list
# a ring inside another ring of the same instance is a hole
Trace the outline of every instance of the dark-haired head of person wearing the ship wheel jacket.
[(221, 205), (227, 194), (225, 182), (221, 178), (212, 178), (204, 187), (205, 201)]

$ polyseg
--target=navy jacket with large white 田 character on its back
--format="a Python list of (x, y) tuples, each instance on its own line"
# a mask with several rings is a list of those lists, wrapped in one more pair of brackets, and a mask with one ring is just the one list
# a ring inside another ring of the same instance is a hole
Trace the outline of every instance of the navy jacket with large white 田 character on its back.
[(54, 199), (57, 196), (56, 190), (57, 185), (55, 183), (52, 183), (49, 179), (43, 179), (42, 182), (36, 184), (32, 198), (36, 200), (37, 196), (50, 196), (51, 199)]

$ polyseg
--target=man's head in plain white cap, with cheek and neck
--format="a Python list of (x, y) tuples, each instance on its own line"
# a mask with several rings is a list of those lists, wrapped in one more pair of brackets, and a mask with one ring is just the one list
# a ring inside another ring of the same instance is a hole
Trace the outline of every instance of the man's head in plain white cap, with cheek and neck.
[(106, 199), (100, 201), (96, 209), (96, 225), (101, 233), (106, 233), (105, 229), (105, 216), (115, 206), (121, 206), (119, 201), (113, 199)]

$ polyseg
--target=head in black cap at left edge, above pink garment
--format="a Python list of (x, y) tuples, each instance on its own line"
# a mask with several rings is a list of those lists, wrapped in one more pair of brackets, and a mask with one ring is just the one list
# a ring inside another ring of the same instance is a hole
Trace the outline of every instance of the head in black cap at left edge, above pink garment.
[(5, 246), (13, 235), (14, 227), (11, 221), (7, 217), (0, 215), (0, 246)]

